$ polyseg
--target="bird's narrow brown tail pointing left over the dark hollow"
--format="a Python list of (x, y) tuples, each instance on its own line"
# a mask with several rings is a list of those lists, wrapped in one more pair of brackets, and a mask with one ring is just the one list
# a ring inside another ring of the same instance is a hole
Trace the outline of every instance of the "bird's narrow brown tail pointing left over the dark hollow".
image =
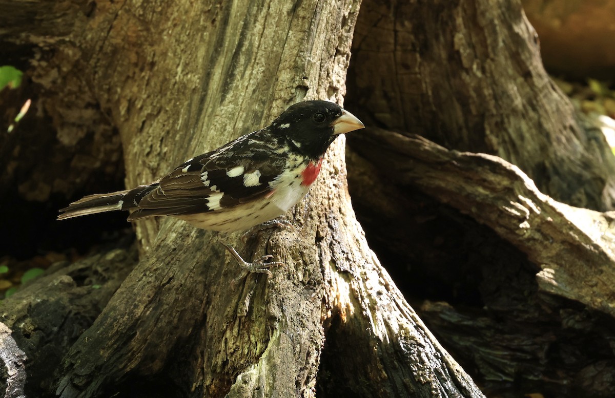
[(87, 216), (88, 214), (105, 213), (114, 210), (130, 210), (137, 208), (141, 198), (145, 197), (157, 184), (141, 185), (134, 189), (111, 193), (97, 193), (74, 201), (68, 207), (60, 209), (58, 220)]

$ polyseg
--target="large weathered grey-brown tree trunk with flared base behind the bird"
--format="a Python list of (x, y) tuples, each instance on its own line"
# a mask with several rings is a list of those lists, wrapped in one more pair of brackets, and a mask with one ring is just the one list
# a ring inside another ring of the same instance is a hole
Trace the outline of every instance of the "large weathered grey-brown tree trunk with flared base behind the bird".
[[(295, 101), (341, 102), (359, 2), (60, 2), (32, 29), (25, 21), (43, 6), (6, 9), (4, 18), (20, 24), (0, 38), (47, 50), (30, 74), (41, 88), (37, 106), (68, 137), (63, 144), (80, 147), (81, 127), (106, 119), (102, 129), (119, 132), (132, 186), (263, 126)], [(64, 115), (92, 108), (100, 112), (79, 119), (80, 127), (60, 129)], [(248, 276), (232, 286), (239, 270), (210, 233), (172, 219), (138, 222), (139, 262), (104, 285), (121, 281), (113, 297), (97, 301), (104, 308), (85, 330), (57, 332), (65, 337), (54, 355), (62, 365), (28, 380), (26, 392), (482, 396), (368, 248), (343, 155), (340, 140), (308, 198), (288, 214), (292, 227), (237, 240), (244, 258), (266, 252), (286, 264), (271, 280)], [(93, 286), (86, 279), (75, 297)], [(24, 320), (35, 334), (49, 321), (27, 308), (49, 292), (30, 286), (4, 303), (2, 320), (28, 357), (38, 346), (26, 347)]]

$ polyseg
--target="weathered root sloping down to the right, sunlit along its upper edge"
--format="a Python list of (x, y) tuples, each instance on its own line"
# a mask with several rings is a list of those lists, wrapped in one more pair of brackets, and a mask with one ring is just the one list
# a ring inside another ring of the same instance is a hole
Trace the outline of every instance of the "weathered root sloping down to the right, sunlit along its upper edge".
[[(613, 214), (573, 208), (539, 192), (517, 166), (485, 154), (446, 150), (420, 136), (372, 128), (363, 155), (469, 214), (539, 265), (538, 286), (615, 316)], [(434, 165), (437, 165), (435, 167)], [(550, 244), (545, 244), (549, 242)]]

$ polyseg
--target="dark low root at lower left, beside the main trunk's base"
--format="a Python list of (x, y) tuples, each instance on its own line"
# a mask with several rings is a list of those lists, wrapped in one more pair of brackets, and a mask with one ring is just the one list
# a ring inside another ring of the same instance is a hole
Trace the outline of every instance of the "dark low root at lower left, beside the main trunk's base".
[(58, 262), (46, 276), (2, 302), (2, 322), (28, 356), (26, 396), (51, 396), (62, 357), (92, 326), (136, 263), (136, 248), (125, 247), (105, 249), (70, 265)]

